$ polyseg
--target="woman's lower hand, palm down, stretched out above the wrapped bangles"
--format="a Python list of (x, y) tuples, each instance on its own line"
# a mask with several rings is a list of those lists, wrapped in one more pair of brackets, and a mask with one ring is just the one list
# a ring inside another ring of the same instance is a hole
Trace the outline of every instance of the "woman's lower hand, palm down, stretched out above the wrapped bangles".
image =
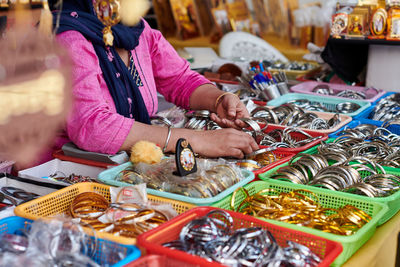
[(194, 152), (205, 157), (235, 157), (259, 149), (253, 137), (232, 128), (214, 131), (195, 131), (191, 143)]

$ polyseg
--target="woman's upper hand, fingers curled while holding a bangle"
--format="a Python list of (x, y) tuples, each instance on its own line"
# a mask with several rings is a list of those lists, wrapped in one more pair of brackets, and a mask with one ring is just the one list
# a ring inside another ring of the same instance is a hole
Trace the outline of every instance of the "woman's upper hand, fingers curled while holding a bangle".
[(211, 114), (211, 119), (223, 128), (242, 129), (246, 124), (241, 118), (249, 117), (246, 106), (235, 94), (226, 94), (217, 103), (216, 114)]

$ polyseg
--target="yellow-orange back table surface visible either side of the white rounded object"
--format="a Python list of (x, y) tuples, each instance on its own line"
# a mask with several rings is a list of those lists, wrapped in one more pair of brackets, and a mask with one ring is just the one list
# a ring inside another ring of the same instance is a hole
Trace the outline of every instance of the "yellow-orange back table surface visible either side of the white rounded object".
[[(180, 40), (176, 37), (169, 37), (167, 40), (172, 44), (175, 49), (184, 47), (211, 47), (218, 53), (218, 43), (211, 43), (209, 36), (202, 36), (188, 40)], [(297, 46), (292, 46), (289, 41), (275, 35), (268, 35), (264, 37), (269, 44), (278, 49), (289, 60), (302, 60), (303, 56), (308, 53), (307, 49), (302, 49)]]

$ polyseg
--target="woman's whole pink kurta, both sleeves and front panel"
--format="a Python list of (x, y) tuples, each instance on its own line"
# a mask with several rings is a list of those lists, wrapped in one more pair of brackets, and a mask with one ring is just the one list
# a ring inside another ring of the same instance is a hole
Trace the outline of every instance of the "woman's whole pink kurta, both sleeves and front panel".
[[(115, 154), (134, 120), (116, 112), (92, 44), (77, 31), (61, 33), (57, 38), (70, 51), (75, 64), (75, 102), (66, 124), (68, 138), (84, 150)], [(131, 52), (143, 82), (140, 92), (150, 116), (158, 109), (157, 92), (167, 101), (188, 108), (192, 92), (210, 83), (190, 70), (189, 63), (146, 22), (139, 45)]]

